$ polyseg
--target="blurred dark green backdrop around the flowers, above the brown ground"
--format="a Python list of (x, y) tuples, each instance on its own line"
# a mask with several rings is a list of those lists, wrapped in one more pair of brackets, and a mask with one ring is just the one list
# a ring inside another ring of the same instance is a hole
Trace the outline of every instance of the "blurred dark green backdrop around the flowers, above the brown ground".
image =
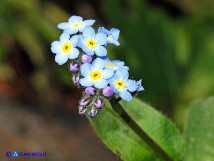
[(121, 30), (109, 57), (125, 61), (143, 80), (138, 97), (181, 129), (188, 105), (214, 94), (214, 1), (1, 0), (1, 97), (39, 105), (48, 115), (77, 113), (81, 90), (50, 51), (61, 34), (57, 24), (71, 15)]

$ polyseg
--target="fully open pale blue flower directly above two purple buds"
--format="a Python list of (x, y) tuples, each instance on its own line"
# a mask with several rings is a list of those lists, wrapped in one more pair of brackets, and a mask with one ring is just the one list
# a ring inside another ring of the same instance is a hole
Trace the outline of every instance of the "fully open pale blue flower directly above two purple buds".
[(96, 58), (92, 64), (84, 63), (80, 67), (80, 73), (84, 77), (79, 80), (80, 85), (84, 87), (94, 86), (102, 89), (108, 85), (107, 79), (113, 76), (114, 71), (112, 69), (106, 69), (105, 61)]

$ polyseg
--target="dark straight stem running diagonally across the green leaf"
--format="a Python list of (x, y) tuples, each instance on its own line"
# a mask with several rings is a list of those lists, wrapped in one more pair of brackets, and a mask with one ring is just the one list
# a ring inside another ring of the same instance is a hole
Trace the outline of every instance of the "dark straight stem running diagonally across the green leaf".
[(159, 156), (166, 161), (173, 161), (173, 159), (129, 116), (115, 97), (110, 99), (110, 103), (113, 110), (155, 153), (159, 154)]

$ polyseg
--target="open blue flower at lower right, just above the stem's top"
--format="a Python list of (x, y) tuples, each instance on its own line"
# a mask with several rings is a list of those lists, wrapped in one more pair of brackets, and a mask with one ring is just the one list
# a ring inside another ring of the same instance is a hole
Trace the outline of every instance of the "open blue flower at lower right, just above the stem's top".
[(128, 79), (129, 73), (121, 68), (116, 71), (114, 76), (109, 80), (114, 93), (119, 94), (125, 101), (131, 101), (132, 95), (130, 92), (137, 90), (137, 83), (134, 80)]

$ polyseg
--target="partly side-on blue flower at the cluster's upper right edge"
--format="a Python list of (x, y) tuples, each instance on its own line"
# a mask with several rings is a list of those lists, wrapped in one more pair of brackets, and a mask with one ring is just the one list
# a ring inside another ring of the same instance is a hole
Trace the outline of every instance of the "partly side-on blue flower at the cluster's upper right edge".
[(104, 33), (107, 35), (107, 44), (114, 44), (116, 46), (120, 45), (117, 41), (119, 38), (120, 30), (112, 28), (110, 31), (105, 29), (104, 27), (98, 28), (98, 33)]

